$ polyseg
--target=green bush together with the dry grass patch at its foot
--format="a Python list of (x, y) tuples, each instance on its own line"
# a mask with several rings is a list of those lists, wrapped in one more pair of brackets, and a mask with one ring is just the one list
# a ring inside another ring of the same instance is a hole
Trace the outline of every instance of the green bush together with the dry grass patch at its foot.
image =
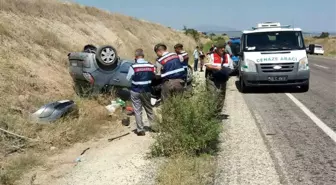
[(155, 138), (152, 156), (167, 157), (157, 184), (212, 184), (221, 121), (216, 114), (218, 96), (198, 84), (191, 98), (171, 98), (161, 109), (161, 133)]

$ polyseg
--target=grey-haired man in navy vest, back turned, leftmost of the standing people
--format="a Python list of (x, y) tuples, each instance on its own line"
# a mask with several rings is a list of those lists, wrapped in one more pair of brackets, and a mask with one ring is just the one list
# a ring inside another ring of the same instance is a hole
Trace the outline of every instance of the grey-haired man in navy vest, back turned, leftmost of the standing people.
[(142, 49), (135, 51), (136, 62), (131, 65), (127, 79), (132, 81), (131, 101), (135, 113), (136, 133), (138, 136), (144, 136), (145, 129), (142, 121), (142, 107), (145, 108), (150, 125), (153, 123), (154, 114), (151, 105), (151, 83), (155, 78), (155, 67), (144, 59)]

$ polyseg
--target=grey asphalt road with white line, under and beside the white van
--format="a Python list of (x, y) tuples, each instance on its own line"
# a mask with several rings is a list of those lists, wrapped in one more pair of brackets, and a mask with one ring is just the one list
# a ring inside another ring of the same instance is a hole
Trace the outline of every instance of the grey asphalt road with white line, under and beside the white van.
[(244, 94), (281, 183), (336, 184), (336, 60), (309, 56), (310, 90)]

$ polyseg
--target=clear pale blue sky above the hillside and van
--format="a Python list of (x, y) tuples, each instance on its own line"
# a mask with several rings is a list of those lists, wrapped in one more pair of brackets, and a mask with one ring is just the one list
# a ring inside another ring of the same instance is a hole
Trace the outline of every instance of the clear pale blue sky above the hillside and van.
[[(304, 31), (336, 31), (336, 0), (72, 0), (181, 29), (213, 26), (238, 30), (277, 21)], [(221, 30), (227, 31), (227, 30)]]

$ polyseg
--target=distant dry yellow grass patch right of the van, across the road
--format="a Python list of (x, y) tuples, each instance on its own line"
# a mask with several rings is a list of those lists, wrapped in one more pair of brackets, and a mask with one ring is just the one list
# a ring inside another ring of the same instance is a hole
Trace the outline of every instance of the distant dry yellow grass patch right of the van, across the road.
[(327, 56), (336, 55), (336, 37), (329, 38), (305, 38), (305, 44), (308, 47), (309, 44), (321, 44), (324, 48), (324, 54)]

